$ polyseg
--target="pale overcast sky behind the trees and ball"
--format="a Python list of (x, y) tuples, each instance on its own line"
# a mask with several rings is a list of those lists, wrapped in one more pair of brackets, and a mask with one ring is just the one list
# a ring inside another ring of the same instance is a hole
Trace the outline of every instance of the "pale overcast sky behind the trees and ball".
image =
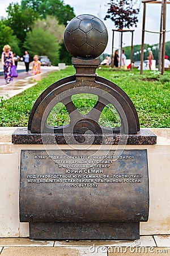
[[(0, 16), (7, 16), (5, 9), (11, 2), (19, 2), (17, 0), (0, 0)], [(108, 34), (109, 34), (109, 42), (108, 46), (105, 49), (106, 53), (111, 53), (112, 48), (112, 29), (114, 28), (114, 24), (111, 20), (104, 20), (104, 16), (107, 13), (108, 6), (107, 3), (109, 0), (64, 0), (66, 4), (69, 4), (74, 8), (75, 15), (80, 14), (92, 14), (98, 16), (103, 20), (105, 26), (107, 26)], [(151, 31), (159, 31), (160, 27), (160, 7), (159, 4), (147, 4), (146, 5), (146, 30)], [(134, 28), (134, 45), (141, 44), (142, 40), (142, 16), (143, 16), (143, 4), (141, 3), (141, 11), (139, 13), (139, 23), (138, 27)], [(170, 5), (167, 5), (167, 30), (170, 30)], [(118, 48), (119, 42), (119, 33), (116, 32), (114, 38), (114, 46)], [(166, 41), (170, 41), (170, 32), (166, 35)], [(123, 36), (124, 46), (130, 46), (131, 44), (131, 33), (126, 32)], [(148, 44), (157, 44), (159, 43), (159, 35), (158, 34), (149, 34), (145, 33), (145, 43)]]

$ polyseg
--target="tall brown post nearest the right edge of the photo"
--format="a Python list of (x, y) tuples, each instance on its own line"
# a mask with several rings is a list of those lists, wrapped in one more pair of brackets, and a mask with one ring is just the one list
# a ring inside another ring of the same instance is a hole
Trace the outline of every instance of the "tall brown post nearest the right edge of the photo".
[(167, 0), (163, 2), (163, 43), (162, 43), (162, 75), (164, 75), (164, 58), (165, 58), (165, 30), (166, 30), (166, 7)]

